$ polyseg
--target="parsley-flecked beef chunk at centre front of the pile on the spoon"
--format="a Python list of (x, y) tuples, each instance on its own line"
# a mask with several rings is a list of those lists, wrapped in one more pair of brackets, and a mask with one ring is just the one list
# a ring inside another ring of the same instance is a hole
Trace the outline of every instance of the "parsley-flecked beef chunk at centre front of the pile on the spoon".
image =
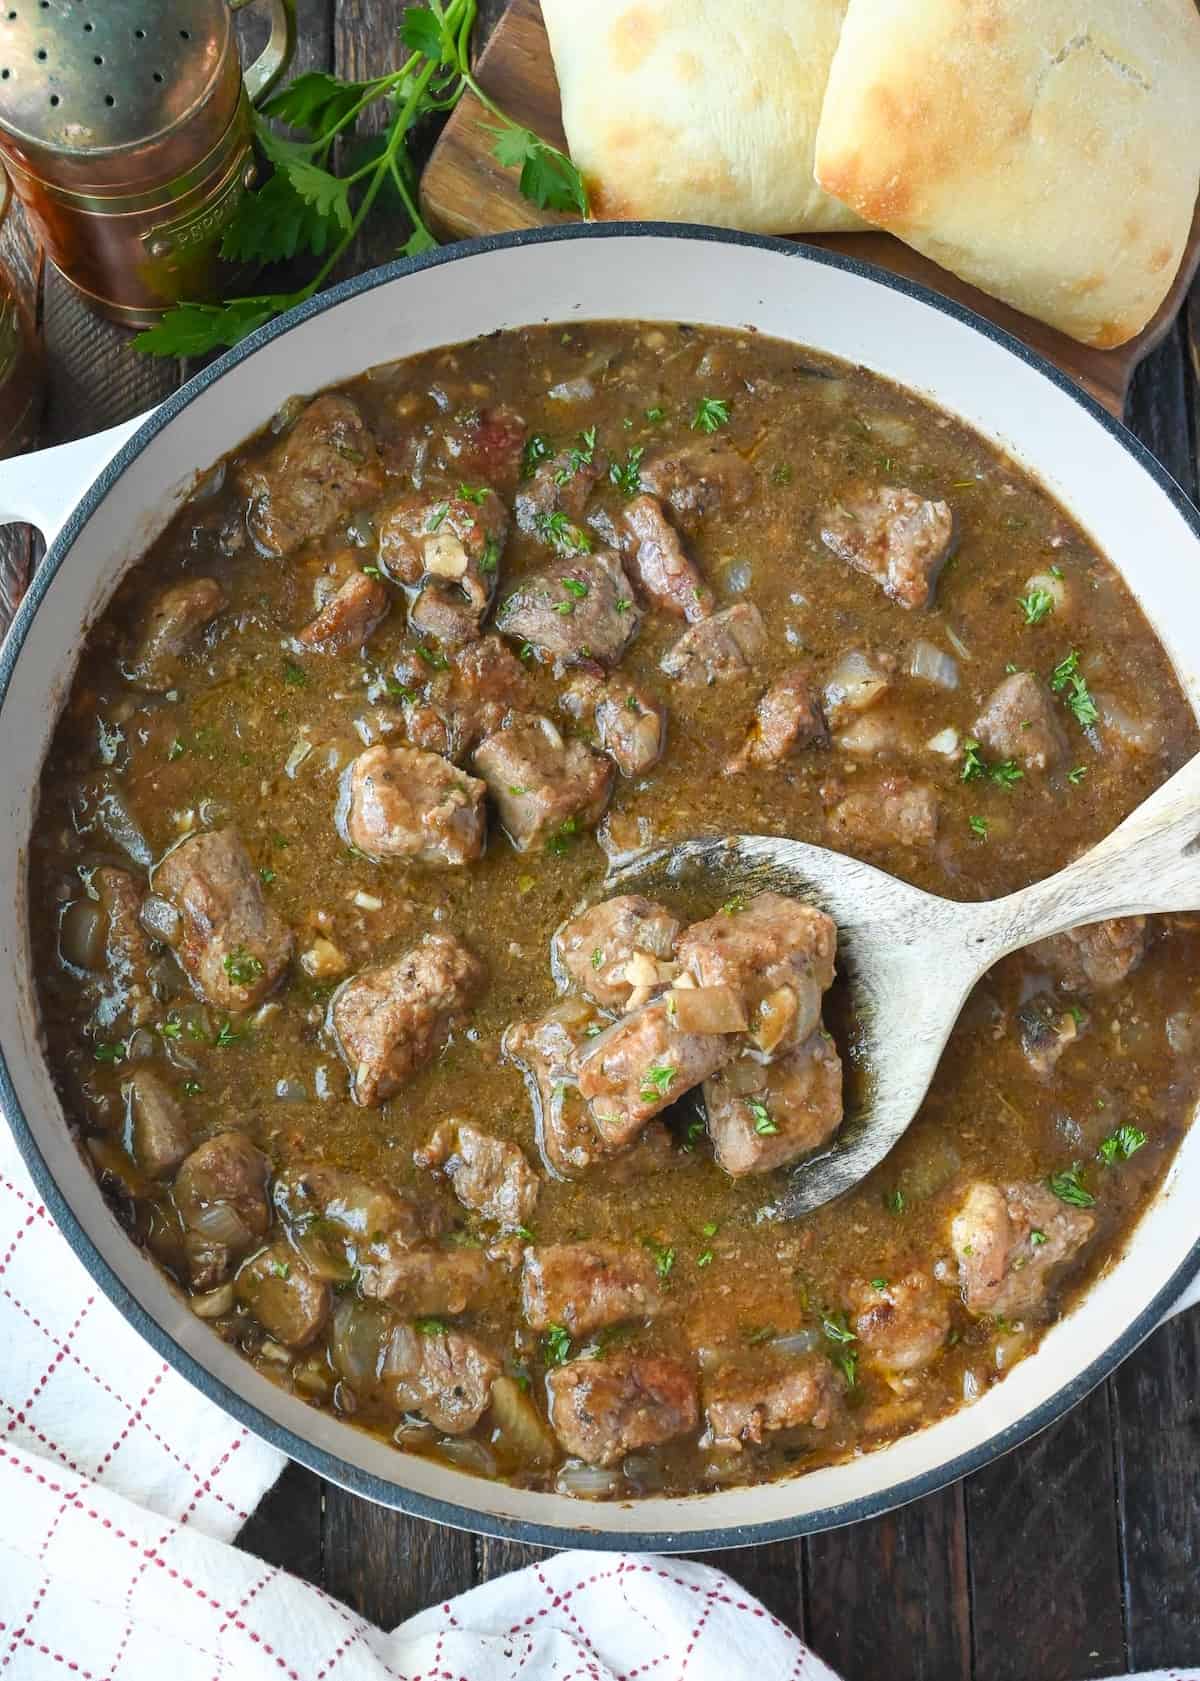
[(627, 1145), (652, 1115), (714, 1074), (736, 1049), (734, 1032), (682, 1032), (661, 995), (593, 1039), (580, 1056), (580, 1091), (597, 1131)]

